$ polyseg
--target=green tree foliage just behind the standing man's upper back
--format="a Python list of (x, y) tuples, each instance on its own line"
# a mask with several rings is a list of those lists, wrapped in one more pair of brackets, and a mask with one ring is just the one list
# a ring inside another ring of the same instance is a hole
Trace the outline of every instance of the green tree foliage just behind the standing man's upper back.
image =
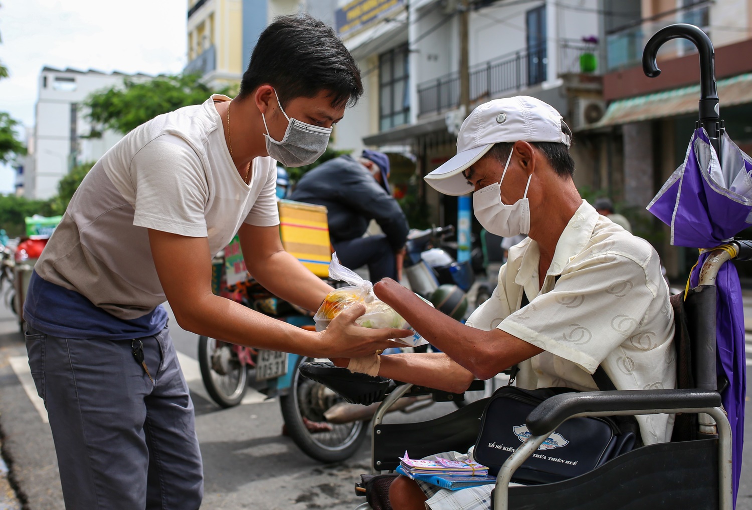
[(160, 75), (152, 80), (126, 78), (123, 86), (112, 86), (86, 99), (92, 122), (91, 137), (105, 129), (127, 133), (147, 120), (191, 104), (202, 104), (212, 92), (229, 93), (229, 88), (212, 91), (199, 81), (200, 74)]

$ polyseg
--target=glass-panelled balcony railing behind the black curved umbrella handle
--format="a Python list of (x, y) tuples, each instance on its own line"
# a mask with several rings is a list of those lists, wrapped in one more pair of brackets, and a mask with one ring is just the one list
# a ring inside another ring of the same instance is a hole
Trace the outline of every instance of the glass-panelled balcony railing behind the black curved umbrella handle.
[[(606, 53), (608, 56), (608, 71), (629, 68), (640, 65), (642, 62), (642, 49), (647, 40), (664, 26), (672, 23), (691, 23), (708, 32), (710, 25), (710, 8), (708, 2), (692, 6), (680, 11), (672, 11), (671, 14), (662, 16), (660, 20), (648, 20), (635, 26), (611, 32), (606, 35)], [(682, 56), (696, 51), (694, 45), (685, 39), (675, 39), (663, 44), (661, 53)]]

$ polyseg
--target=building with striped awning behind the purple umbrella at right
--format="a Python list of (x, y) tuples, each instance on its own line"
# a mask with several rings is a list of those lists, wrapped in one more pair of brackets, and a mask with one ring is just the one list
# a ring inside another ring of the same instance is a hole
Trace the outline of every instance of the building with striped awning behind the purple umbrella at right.
[[(690, 41), (661, 47), (656, 78), (644, 75), (642, 50), (648, 38), (672, 23), (692, 23), (710, 37), (720, 118), (744, 151), (752, 152), (752, 2), (749, 0), (619, 0), (628, 16), (607, 25), (603, 99), (598, 122), (575, 134), (588, 140), (597, 171), (590, 186), (603, 189), (637, 224), (637, 233), (660, 252), (669, 277), (683, 278), (697, 250), (670, 245), (669, 228), (644, 212), (660, 186), (682, 164), (698, 119), (699, 58)], [(749, 234), (752, 234), (750, 232)], [(738, 266), (752, 278), (749, 268)]]

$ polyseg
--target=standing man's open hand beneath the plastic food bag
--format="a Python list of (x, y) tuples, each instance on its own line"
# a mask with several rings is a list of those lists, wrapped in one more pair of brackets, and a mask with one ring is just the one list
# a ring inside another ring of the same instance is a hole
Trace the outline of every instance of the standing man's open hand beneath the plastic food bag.
[(344, 309), (321, 331), (322, 358), (361, 358), (373, 355), (378, 349), (402, 346), (390, 338), (404, 338), (413, 333), (392, 327), (370, 329), (355, 324), (365, 313), (365, 306), (357, 303)]

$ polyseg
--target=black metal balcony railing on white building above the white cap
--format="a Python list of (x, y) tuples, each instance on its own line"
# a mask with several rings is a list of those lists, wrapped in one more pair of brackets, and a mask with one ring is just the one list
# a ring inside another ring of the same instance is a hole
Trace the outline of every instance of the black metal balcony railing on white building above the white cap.
[[(559, 44), (559, 74), (581, 72), (581, 55), (593, 53), (593, 45)], [(547, 77), (546, 48), (520, 50), (470, 68), (470, 101), (493, 98), (525, 89)], [(418, 116), (441, 113), (459, 106), (459, 73), (450, 73), (418, 85)]]

